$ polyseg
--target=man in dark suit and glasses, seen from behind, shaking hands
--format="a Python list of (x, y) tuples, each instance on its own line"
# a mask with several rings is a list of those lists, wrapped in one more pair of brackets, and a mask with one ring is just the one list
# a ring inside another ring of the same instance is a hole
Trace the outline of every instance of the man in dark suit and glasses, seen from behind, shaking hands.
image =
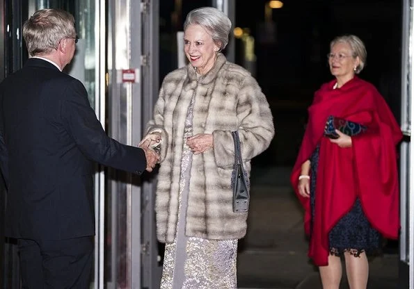
[(93, 161), (141, 174), (159, 156), (109, 138), (82, 83), (62, 72), (77, 42), (72, 15), (39, 10), (23, 36), (31, 58), (0, 83), (6, 236), (17, 238), (23, 288), (89, 288)]

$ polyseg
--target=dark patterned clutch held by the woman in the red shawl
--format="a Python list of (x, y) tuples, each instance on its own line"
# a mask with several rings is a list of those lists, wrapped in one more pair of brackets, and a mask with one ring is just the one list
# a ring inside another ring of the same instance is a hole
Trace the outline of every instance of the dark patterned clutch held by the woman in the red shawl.
[(352, 136), (367, 131), (367, 126), (330, 115), (328, 119), (326, 119), (324, 135), (328, 138), (339, 138), (340, 136), (335, 132), (335, 129), (346, 135)]

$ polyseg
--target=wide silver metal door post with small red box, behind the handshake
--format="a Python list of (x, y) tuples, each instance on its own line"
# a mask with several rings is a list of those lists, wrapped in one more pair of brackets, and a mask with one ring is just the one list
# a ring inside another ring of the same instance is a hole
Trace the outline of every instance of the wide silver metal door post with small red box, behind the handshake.
[[(109, 2), (109, 135), (127, 145), (135, 146), (140, 142), (143, 135), (143, 120), (149, 119), (152, 111), (153, 88), (148, 88), (154, 81), (149, 60), (152, 51), (143, 52), (143, 17), (147, 17), (148, 13), (149, 19), (152, 19), (151, 11), (157, 7), (153, 6), (153, 3), (134, 0)], [(155, 24), (157, 25), (157, 22)], [(148, 31), (153, 28), (154, 26), (150, 26)], [(154, 35), (150, 34), (148, 41), (153, 37)], [(153, 44), (148, 43), (145, 47), (153, 49)], [(133, 75), (134, 80), (125, 79), (127, 71)], [(142, 97), (143, 91), (148, 96), (145, 99)], [(106, 288), (142, 288), (145, 279), (142, 272), (152, 272), (148, 262), (144, 262), (148, 261), (144, 256), (153, 248), (150, 241), (144, 240), (144, 236), (151, 240), (150, 231), (154, 227), (153, 216), (143, 227), (143, 220), (146, 220), (147, 214), (153, 209), (152, 200), (148, 198), (154, 195), (152, 181), (147, 181), (146, 176), (147, 174), (144, 174), (141, 178), (109, 170), (108, 189), (111, 200), (107, 208), (111, 210), (111, 221), (107, 225), (111, 227), (112, 279), (106, 280)], [(124, 237), (125, 244), (120, 244), (121, 238)], [(156, 260), (157, 256), (153, 258)], [(146, 267), (149, 269), (143, 269)]]

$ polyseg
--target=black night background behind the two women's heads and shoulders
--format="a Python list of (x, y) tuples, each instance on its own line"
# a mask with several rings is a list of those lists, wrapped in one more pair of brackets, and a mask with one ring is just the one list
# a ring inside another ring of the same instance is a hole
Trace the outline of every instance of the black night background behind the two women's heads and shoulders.
[[(332, 79), (326, 54), (337, 35), (354, 34), (363, 40), (368, 56), (360, 77), (378, 88), (399, 121), (402, 1), (283, 1), (282, 8), (273, 9), (271, 24), (265, 24), (266, 2), (236, 1), (233, 24), (248, 28), (255, 38), (254, 74), (271, 105), (276, 126), (271, 146), (253, 159), (253, 165), (293, 165), (313, 94)], [(177, 67), (175, 33), (182, 30), (186, 14), (202, 6), (212, 3), (183, 0), (179, 8), (174, 1), (162, 3), (160, 81)], [(235, 62), (243, 65), (243, 44), (239, 39), (233, 41)]]

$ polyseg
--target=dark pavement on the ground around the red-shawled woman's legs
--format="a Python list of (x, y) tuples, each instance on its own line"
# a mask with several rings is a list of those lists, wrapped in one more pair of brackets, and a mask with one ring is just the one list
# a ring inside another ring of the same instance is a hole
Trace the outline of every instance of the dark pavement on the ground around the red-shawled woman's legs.
[[(239, 288), (319, 289), (307, 256), (303, 209), (289, 184), (289, 168), (253, 170), (248, 233), (239, 242)], [(369, 289), (397, 288), (398, 254), (370, 261)], [(341, 289), (347, 286), (342, 274)]]

